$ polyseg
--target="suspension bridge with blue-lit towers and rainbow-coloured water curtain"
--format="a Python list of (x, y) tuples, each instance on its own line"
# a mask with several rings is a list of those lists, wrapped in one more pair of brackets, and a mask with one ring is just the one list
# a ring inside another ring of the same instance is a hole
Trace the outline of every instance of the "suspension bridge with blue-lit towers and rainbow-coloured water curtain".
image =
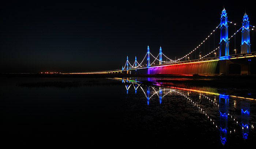
[[(234, 28), (234, 32), (231, 34), (228, 32), (228, 28), (230, 28), (228, 25)], [(249, 17), (246, 12), (242, 18), (242, 25), (238, 25), (227, 19), (227, 12), (223, 8), (221, 21), (217, 27), (198, 46), (183, 57), (170, 59), (162, 52), (161, 46), (158, 55), (154, 56), (150, 52), (150, 47), (147, 46), (147, 53), (140, 63), (136, 56), (134, 63), (130, 63), (127, 56), (122, 69), (82, 72), (82, 74), (199, 74), (208, 76), (256, 74), (256, 52), (253, 52), (254, 31), (255, 26), (249, 25)], [(215, 34), (220, 37), (217, 42), (215, 42)], [(250, 34), (252, 34), (252, 45)], [(236, 38), (241, 38), (241, 41), (237, 42)], [(239, 46), (237, 46), (238, 43)], [(205, 47), (208, 51), (205, 50)], [(79, 73), (81, 74), (81, 72)]]

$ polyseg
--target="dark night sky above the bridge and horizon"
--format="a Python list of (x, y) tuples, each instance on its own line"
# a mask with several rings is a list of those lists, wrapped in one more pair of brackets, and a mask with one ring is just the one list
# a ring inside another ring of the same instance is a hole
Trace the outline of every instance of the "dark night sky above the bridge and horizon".
[(253, 1), (1, 2), (0, 72), (120, 69), (126, 56), (140, 62), (147, 45), (182, 57), (217, 27), (223, 4), (229, 21), (241, 25), (246, 9), (256, 25)]

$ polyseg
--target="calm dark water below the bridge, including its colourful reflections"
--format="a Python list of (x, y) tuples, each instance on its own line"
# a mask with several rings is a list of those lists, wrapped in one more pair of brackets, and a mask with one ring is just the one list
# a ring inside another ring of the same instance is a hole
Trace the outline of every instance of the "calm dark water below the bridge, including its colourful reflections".
[(250, 88), (222, 93), (158, 78), (0, 79), (1, 144), (10, 148), (256, 145)]

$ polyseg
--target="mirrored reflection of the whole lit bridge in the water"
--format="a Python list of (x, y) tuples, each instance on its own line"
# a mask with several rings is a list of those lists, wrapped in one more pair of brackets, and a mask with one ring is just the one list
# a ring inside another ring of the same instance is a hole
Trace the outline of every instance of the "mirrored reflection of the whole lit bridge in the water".
[[(135, 94), (138, 93), (138, 90), (141, 90), (144, 94), (145, 102), (147, 101), (147, 105), (150, 104), (151, 100), (159, 100), (159, 104), (162, 104), (165, 100), (171, 100), (167, 96), (168, 94), (182, 97), (185, 102), (189, 102), (192, 107), (197, 108), (198, 112), (205, 116), (212, 127), (219, 131), (219, 139), (222, 145), (225, 145), (227, 138), (232, 135), (239, 135), (246, 140), (250, 130), (254, 130), (255, 121), (250, 123), (250, 103), (255, 102), (253, 98), (219, 94), (215, 92), (214, 89), (207, 88), (189, 89), (174, 86), (166, 87), (160, 84), (145, 84), (136, 79), (109, 79), (122, 81), (127, 90), (127, 94), (133, 89)], [(150, 79), (148, 78), (148, 80)], [(209, 90), (213, 92), (209, 92)], [(230, 99), (232, 99), (231, 102), (229, 101)], [(234, 112), (233, 109), (237, 107), (240, 107), (241, 115), (231, 113), (231, 111)], [(219, 115), (219, 117), (216, 115)]]

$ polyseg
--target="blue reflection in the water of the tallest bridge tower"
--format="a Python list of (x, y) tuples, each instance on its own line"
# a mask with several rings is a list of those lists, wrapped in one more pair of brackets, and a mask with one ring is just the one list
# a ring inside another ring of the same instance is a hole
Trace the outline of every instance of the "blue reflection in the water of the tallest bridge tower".
[(224, 145), (227, 141), (227, 116), (229, 109), (229, 95), (219, 94), (219, 113), (220, 113), (220, 133), (221, 143)]

